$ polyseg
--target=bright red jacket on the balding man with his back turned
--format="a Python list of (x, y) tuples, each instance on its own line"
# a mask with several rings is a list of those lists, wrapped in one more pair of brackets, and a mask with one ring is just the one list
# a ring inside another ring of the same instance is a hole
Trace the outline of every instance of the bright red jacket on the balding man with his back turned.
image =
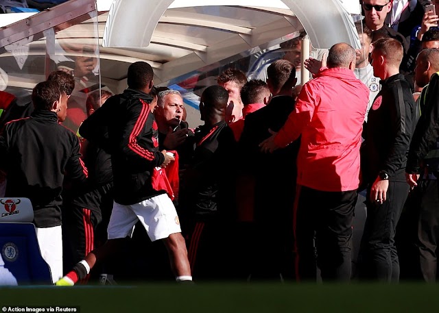
[(359, 147), (369, 90), (348, 68), (324, 68), (300, 91), (296, 109), (274, 138), (300, 135), (297, 184), (340, 192), (359, 186)]

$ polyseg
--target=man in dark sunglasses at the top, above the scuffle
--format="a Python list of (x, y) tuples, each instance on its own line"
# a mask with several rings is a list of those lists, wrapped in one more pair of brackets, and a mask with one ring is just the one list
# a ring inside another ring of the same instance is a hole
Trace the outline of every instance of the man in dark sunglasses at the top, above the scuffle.
[(392, 0), (363, 0), (361, 7), (364, 12), (364, 21), (372, 30), (372, 42), (383, 37), (394, 38), (403, 45), (404, 54), (407, 53), (409, 43), (405, 37), (385, 25), (385, 16), (392, 10)]

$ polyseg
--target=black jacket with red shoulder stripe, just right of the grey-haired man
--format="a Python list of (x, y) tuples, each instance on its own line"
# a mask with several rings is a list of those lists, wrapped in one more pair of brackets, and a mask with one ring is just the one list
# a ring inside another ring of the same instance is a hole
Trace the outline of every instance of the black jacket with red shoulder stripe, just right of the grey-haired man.
[(232, 221), (237, 142), (225, 121), (195, 129), (193, 157), (180, 180), (180, 208), (192, 221)]

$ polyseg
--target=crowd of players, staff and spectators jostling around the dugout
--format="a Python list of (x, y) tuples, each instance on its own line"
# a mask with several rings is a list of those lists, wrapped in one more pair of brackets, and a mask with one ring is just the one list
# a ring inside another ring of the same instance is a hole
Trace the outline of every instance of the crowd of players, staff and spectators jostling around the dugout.
[(129, 66), (121, 94), (89, 92), (76, 134), (60, 125), (68, 71), (5, 108), (4, 196), (32, 202), (52, 282), (123, 279), (122, 267), (181, 283), (435, 281), (439, 18), (399, 2), (361, 1), (361, 49), (307, 59), (305, 84), (286, 57), (263, 79), (227, 68), (202, 92), (202, 125), (147, 62)]

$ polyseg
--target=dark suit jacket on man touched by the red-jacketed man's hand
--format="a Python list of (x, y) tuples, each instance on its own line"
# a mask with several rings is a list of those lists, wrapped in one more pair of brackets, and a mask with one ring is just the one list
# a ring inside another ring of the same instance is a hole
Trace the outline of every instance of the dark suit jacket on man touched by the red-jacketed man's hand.
[(256, 180), (254, 221), (273, 223), (278, 228), (278, 223), (292, 223), (300, 143), (296, 140), (274, 153), (261, 153), (259, 143), (271, 136), (268, 129), (281, 129), (294, 107), (292, 97), (274, 97), (264, 108), (246, 116), (239, 140), (242, 170)]

